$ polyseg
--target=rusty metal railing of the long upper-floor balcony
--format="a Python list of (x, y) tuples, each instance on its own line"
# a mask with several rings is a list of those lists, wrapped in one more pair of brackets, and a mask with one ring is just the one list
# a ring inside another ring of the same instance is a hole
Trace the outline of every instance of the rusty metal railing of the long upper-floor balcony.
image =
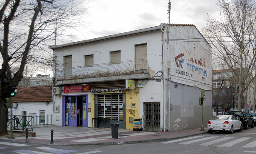
[(55, 71), (55, 80), (84, 79), (116, 75), (148, 73), (147, 60), (129, 60), (120, 63), (104, 63), (89, 67), (74, 67)]

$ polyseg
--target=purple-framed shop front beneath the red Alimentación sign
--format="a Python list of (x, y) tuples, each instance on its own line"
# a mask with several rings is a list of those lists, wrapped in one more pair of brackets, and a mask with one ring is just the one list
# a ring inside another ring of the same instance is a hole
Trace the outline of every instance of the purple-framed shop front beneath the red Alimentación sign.
[(88, 127), (88, 95), (69, 95), (62, 98), (62, 126)]

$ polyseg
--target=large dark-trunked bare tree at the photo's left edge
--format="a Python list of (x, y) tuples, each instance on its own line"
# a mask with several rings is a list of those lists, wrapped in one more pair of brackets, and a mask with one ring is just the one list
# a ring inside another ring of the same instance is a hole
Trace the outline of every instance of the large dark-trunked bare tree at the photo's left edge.
[[(49, 45), (55, 45), (57, 36), (58, 40), (68, 40), (70, 29), (84, 24), (86, 8), (79, 1), (0, 2), (0, 135), (7, 134), (7, 109), (3, 103), (9, 97), (9, 87), (18, 85), (26, 64), (51, 64)], [(12, 74), (11, 67), (15, 66), (18, 69)]]

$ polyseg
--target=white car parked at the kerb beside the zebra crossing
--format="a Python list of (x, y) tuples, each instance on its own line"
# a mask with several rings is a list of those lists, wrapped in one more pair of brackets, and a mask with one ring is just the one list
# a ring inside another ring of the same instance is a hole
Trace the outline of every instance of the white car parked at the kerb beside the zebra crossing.
[(242, 131), (243, 125), (233, 115), (218, 115), (208, 121), (207, 128), (209, 133), (213, 131), (230, 131), (233, 133), (234, 130)]

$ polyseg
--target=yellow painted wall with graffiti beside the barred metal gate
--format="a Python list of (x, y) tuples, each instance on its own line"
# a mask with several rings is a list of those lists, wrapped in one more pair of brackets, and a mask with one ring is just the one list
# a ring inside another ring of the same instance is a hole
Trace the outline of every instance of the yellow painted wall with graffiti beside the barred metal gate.
[[(134, 119), (140, 118), (140, 91), (139, 93), (135, 93), (135, 89), (128, 89), (128, 91), (125, 91), (125, 100), (126, 129), (132, 130), (134, 128), (134, 124), (129, 123), (129, 117)], [(136, 108), (131, 108), (131, 103), (135, 103)]]

